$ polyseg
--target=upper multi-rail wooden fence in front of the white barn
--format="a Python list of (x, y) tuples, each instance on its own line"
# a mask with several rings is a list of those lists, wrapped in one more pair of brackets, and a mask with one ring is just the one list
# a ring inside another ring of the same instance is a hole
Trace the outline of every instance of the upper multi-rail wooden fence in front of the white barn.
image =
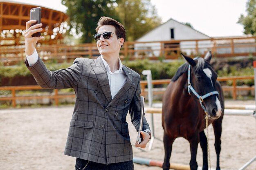
[[(154, 42), (125, 42), (120, 51), (121, 60), (144, 59), (164, 60), (177, 59), (180, 52), (191, 57), (203, 56), (212, 51), (214, 57), (234, 57), (256, 55), (256, 36), (237, 38), (211, 38), (195, 40), (171, 40)], [(78, 45), (52, 44), (38, 46), (42, 60), (72, 62), (76, 57), (96, 58), (99, 51), (96, 43)], [(4, 65), (15, 65), (26, 59), (25, 48), (20, 46), (0, 46), (0, 62)]]

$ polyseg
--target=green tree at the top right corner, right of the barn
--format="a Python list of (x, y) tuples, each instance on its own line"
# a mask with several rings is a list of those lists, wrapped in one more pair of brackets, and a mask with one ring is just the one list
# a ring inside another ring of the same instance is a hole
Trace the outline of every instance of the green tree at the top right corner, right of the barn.
[(238, 23), (244, 26), (245, 34), (256, 35), (256, 0), (249, 0), (246, 6), (248, 14), (241, 14)]

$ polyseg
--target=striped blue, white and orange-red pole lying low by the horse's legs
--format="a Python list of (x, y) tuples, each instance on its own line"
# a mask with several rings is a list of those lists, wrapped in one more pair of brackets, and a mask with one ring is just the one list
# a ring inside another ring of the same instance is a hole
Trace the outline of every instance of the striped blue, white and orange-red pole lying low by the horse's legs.
[[(147, 166), (158, 166), (158, 167), (162, 167), (163, 166), (163, 162), (162, 161), (153, 161), (151, 159), (146, 159), (146, 158), (133, 157), (133, 162), (141, 164), (141, 165), (147, 165)], [(170, 169), (174, 169), (174, 170), (190, 170), (190, 167), (186, 166), (186, 165), (182, 165), (182, 164), (171, 163)]]

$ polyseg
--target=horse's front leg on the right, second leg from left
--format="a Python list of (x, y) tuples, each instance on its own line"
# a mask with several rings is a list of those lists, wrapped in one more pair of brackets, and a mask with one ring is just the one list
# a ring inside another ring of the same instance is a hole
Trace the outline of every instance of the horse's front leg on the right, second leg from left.
[(189, 140), (190, 144), (190, 152), (191, 152), (191, 159), (189, 162), (190, 170), (197, 170), (198, 169), (198, 163), (196, 162), (196, 155), (198, 151), (198, 142), (199, 142), (199, 136), (198, 133), (195, 133), (191, 140)]

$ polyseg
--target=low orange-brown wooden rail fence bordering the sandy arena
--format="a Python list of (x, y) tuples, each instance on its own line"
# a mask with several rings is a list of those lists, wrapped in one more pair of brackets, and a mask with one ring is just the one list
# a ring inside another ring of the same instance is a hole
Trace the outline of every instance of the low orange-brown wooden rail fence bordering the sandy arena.
[[(254, 87), (239, 87), (236, 86), (236, 81), (241, 80), (241, 79), (254, 79), (254, 76), (234, 76), (234, 77), (218, 77), (218, 81), (224, 82), (224, 81), (232, 81), (233, 85), (228, 88), (223, 88), (223, 91), (232, 91), (233, 92), (233, 99), (236, 99), (236, 91), (240, 90), (254, 90)], [(171, 79), (159, 79), (159, 80), (152, 80), (152, 84), (169, 84)], [(141, 81), (141, 95), (146, 95), (147, 92), (145, 91), (147, 85), (147, 81)], [(58, 106), (59, 104), (59, 99), (60, 98), (67, 98), (67, 97), (75, 97), (75, 94), (59, 94), (58, 89), (54, 89), (54, 95), (41, 95), (41, 96), (17, 96), (16, 91), (21, 91), (21, 90), (41, 90), (41, 88), (38, 85), (34, 86), (4, 86), (0, 87), (0, 91), (11, 91), (11, 96), (10, 97), (1, 97), (0, 96), (0, 101), (11, 101), (13, 107), (16, 107), (16, 100), (17, 99), (42, 99), (42, 98), (49, 98), (49, 99), (54, 99), (55, 105)], [(163, 94), (164, 91), (160, 92), (153, 92), (153, 95), (156, 94)]]

